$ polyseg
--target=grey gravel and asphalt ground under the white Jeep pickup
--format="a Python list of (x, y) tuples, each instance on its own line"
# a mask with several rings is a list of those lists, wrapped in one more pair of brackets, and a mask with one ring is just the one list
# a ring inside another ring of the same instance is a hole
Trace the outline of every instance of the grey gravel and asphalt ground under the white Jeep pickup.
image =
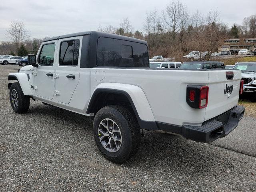
[(0, 191), (256, 191), (256, 119), (213, 144), (145, 132), (121, 166), (98, 152), (90, 118), (33, 101), (15, 114), (6, 79), (18, 68), (0, 66)]

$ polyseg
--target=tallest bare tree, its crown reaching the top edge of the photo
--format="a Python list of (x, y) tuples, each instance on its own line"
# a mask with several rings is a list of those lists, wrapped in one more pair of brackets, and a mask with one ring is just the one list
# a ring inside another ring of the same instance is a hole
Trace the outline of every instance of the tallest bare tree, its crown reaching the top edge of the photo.
[(162, 12), (162, 27), (172, 35), (173, 40), (184, 28), (187, 20), (187, 8), (180, 0), (173, 0)]

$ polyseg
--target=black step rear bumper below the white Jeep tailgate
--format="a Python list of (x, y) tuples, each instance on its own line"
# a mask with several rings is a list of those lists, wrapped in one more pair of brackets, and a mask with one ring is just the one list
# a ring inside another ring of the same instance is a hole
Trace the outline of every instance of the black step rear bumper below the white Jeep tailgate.
[(214, 140), (225, 137), (244, 116), (244, 106), (235, 106), (231, 110), (203, 123), (202, 126), (182, 126), (182, 136), (186, 139), (197, 142), (213, 142)]

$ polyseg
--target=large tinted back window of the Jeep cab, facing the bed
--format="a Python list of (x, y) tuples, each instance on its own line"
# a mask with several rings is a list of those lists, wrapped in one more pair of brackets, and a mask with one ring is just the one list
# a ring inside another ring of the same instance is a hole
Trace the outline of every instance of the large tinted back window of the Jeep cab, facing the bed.
[(149, 67), (148, 47), (141, 43), (100, 37), (97, 66)]

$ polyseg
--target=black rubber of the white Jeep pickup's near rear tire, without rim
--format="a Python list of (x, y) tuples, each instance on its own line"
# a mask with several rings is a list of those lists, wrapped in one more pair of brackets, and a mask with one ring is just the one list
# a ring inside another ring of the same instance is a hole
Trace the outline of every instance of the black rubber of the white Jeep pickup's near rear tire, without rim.
[[(122, 144), (118, 151), (109, 152), (100, 142), (98, 128), (102, 120), (109, 118), (114, 120), (122, 134)], [(100, 109), (93, 122), (93, 135), (96, 145), (102, 155), (108, 160), (121, 164), (134, 156), (140, 146), (140, 128), (132, 113), (122, 106), (106, 106)]]

